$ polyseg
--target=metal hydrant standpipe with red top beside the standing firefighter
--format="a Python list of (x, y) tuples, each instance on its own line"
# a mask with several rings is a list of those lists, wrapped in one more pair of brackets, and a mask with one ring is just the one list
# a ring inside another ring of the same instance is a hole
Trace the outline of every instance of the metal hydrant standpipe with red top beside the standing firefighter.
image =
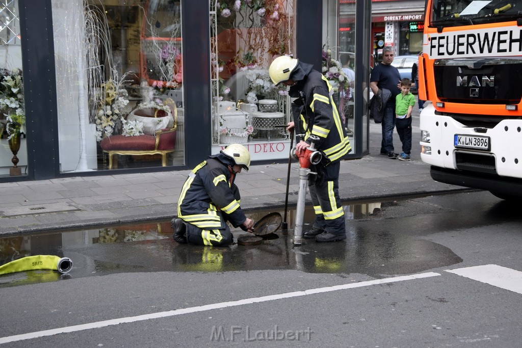
[[(304, 134), (298, 134), (297, 136), (304, 138)], [(295, 148), (292, 149), (293, 157), (299, 160), (299, 194), (297, 207), (295, 208), (294, 235), (292, 238), (292, 243), (296, 245), (303, 244), (304, 203), (306, 201), (308, 178), (310, 174), (317, 174), (310, 170), (310, 165), (318, 164), (323, 159), (323, 154), (315, 149), (315, 141), (319, 140), (319, 138), (311, 135), (309, 139), (312, 142), (305, 151), (297, 153)]]

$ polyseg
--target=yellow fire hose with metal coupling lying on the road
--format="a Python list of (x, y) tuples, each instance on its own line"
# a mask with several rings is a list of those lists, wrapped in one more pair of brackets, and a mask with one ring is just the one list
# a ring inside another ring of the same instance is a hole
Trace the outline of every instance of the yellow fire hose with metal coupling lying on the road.
[(22, 257), (0, 266), (0, 274), (31, 271), (35, 269), (51, 269), (60, 273), (69, 273), (73, 268), (73, 260), (68, 257), (54, 255), (34, 255)]

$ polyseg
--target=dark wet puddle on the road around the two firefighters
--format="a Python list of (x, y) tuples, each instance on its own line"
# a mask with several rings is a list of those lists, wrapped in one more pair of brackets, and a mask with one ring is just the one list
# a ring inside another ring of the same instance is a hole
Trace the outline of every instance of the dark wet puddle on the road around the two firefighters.
[[(383, 203), (344, 207), (347, 220), (378, 215)], [(250, 212), (255, 221), (273, 212)], [(276, 210), (284, 218), (283, 210)], [(56, 255), (73, 260), (70, 274), (27, 271), (0, 276), (0, 287), (57, 281), (70, 277), (121, 272), (228, 272), (250, 270), (299, 270), (312, 273), (364, 273), (372, 277), (410, 274), (461, 262), (452, 250), (407, 234), (370, 229), (372, 224), (347, 224), (346, 241), (291, 242), (295, 211), (287, 214), (288, 230), (264, 236), (259, 245), (202, 247), (177, 244), (170, 221), (110, 226), (81, 231), (61, 231), (0, 238), (0, 265), (25, 256)], [(305, 211), (305, 230), (314, 215)], [(245, 234), (233, 230), (234, 240)]]

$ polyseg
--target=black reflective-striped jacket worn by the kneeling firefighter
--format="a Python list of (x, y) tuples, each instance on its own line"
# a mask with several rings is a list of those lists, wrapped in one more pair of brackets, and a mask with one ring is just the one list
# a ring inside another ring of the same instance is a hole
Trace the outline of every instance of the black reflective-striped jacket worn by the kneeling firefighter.
[(218, 210), (234, 227), (245, 222), (235, 174), (228, 167), (231, 161), (222, 153), (211, 155), (188, 174), (177, 202), (179, 218), (203, 230), (222, 227)]

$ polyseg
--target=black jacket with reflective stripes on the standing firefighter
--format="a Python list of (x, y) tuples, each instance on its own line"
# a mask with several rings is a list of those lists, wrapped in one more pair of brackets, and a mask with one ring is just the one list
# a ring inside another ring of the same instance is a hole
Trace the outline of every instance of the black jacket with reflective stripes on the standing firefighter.
[(303, 139), (311, 143), (311, 134), (319, 137), (315, 147), (327, 157), (327, 162), (339, 161), (350, 152), (350, 141), (342, 125), (337, 106), (330, 95), (332, 87), (311, 64), (299, 62), (290, 75), (295, 83), (290, 87), (290, 97), (298, 98), (292, 103), (296, 134), (305, 134)]

